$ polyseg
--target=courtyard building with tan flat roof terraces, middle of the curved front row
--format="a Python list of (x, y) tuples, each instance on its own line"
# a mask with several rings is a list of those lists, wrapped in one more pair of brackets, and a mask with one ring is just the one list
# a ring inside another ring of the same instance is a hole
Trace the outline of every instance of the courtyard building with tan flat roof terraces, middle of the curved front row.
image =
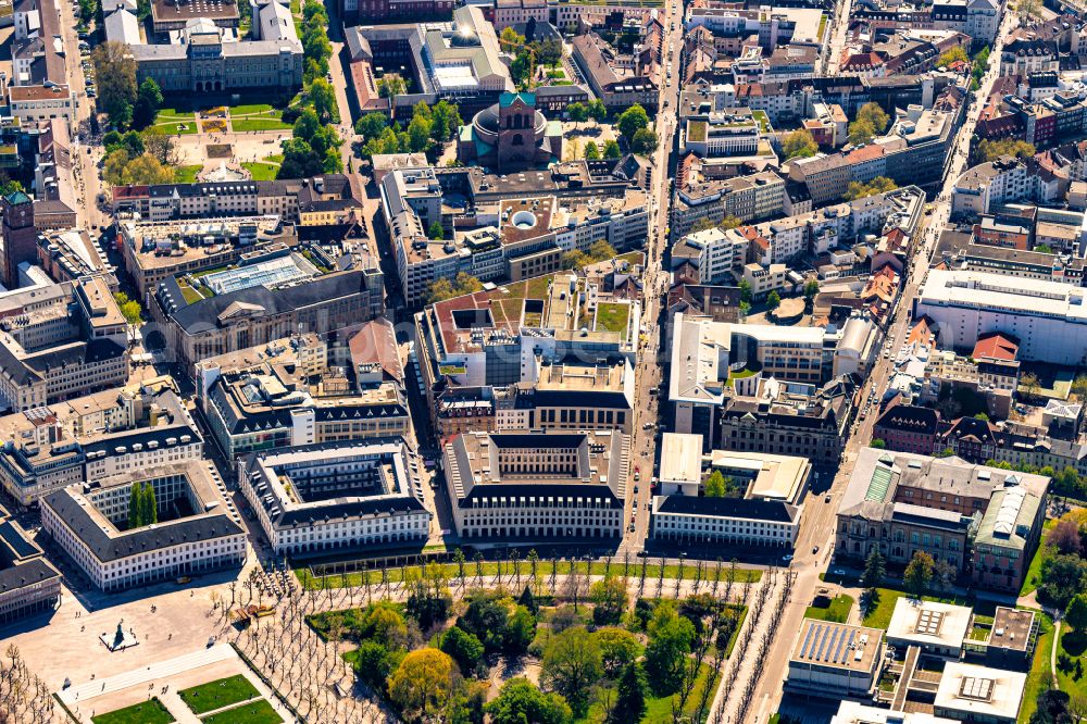
[(628, 438), (617, 432), (464, 433), (442, 451), (462, 539), (623, 534)]

